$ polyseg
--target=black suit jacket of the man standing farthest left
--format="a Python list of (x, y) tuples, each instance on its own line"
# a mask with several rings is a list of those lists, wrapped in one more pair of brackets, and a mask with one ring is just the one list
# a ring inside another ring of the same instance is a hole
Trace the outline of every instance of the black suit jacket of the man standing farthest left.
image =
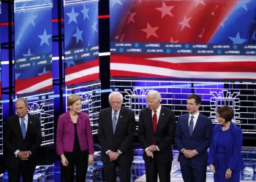
[(5, 123), (4, 144), (7, 150), (7, 167), (17, 167), (20, 159), (15, 157), (15, 151), (31, 151), (29, 162), (36, 163), (37, 151), (42, 143), (41, 123), (38, 117), (28, 114), (28, 127), (25, 139), (20, 128), (17, 115), (10, 116)]

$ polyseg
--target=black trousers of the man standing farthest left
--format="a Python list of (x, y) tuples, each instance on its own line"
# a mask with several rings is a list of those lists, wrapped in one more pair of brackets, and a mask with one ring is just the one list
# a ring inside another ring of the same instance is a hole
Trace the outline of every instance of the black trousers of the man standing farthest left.
[(17, 167), (7, 169), (9, 182), (20, 182), (20, 175), (23, 182), (32, 182), (36, 165), (30, 161), (20, 161)]

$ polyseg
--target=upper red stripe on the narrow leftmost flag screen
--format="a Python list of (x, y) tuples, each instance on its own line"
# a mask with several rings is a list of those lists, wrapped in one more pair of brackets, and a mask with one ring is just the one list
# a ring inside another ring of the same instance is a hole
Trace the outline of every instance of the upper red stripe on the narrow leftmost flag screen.
[[(43, 82), (47, 79), (51, 79), (52, 77), (53, 77), (53, 72), (49, 72), (47, 74), (43, 74), (43, 75), (36, 76), (29, 79), (15, 79), (15, 92), (20, 92), (21, 90), (25, 90), (26, 88), (29, 88), (34, 84), (38, 84), (39, 82)], [(37, 90), (34, 90), (34, 91), (37, 91)]]

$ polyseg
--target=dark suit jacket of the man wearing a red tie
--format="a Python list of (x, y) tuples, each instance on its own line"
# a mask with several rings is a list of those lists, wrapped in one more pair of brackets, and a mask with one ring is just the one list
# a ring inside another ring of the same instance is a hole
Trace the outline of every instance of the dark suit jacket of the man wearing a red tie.
[(138, 140), (143, 147), (145, 162), (151, 160), (151, 157), (146, 155), (145, 149), (152, 144), (159, 148), (159, 151), (154, 151), (154, 159), (157, 159), (157, 162), (171, 162), (173, 160), (172, 143), (174, 143), (174, 135), (175, 115), (169, 108), (162, 106), (156, 133), (153, 130), (151, 109), (144, 108), (140, 111)]

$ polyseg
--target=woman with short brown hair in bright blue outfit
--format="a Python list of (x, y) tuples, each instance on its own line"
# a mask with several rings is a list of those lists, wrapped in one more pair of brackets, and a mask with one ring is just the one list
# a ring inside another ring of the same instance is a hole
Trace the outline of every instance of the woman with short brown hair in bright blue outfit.
[(222, 106), (217, 113), (218, 122), (214, 126), (208, 164), (216, 182), (238, 182), (244, 170), (241, 156), (243, 133), (231, 120), (234, 112), (230, 106)]

